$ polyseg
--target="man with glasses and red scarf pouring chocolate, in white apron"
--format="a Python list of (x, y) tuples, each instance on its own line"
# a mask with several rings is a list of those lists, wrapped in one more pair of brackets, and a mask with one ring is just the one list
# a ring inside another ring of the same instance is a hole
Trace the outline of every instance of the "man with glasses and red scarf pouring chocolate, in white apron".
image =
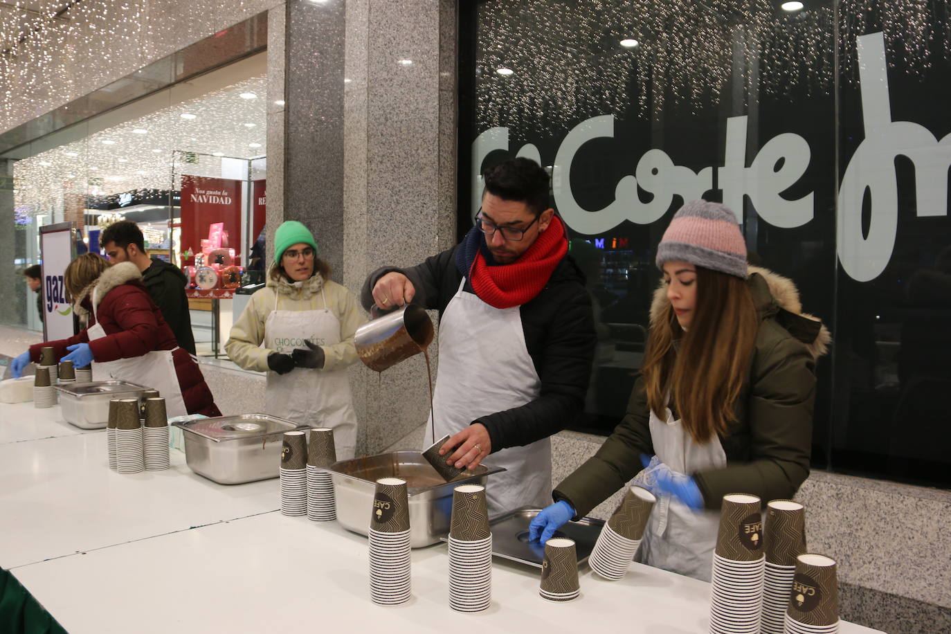
[[(452, 434), (447, 464), (504, 467), (487, 489), (493, 514), (550, 499), (549, 436), (584, 406), (595, 335), (584, 277), (549, 206), (549, 176), (530, 159), (485, 174), (475, 226), (417, 266), (383, 267), (362, 303), (438, 310), (439, 364), (426, 438)], [(435, 426), (435, 429), (434, 429)]]

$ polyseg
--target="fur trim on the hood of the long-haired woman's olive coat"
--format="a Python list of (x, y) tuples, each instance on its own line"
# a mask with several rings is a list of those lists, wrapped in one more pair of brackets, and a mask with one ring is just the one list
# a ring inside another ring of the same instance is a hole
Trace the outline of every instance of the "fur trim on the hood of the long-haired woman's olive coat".
[[(747, 283), (760, 316), (774, 317), (790, 335), (805, 343), (813, 357), (825, 355), (832, 336), (819, 317), (803, 312), (796, 284), (760, 266), (749, 266), (748, 271)], [(667, 288), (661, 281), (650, 302), (651, 327), (660, 321), (669, 307)]]

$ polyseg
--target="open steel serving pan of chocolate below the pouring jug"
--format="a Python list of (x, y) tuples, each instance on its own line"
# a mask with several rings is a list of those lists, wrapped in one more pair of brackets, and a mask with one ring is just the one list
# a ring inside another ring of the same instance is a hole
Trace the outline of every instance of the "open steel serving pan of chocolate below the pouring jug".
[(373, 496), (377, 480), (398, 477), (406, 480), (410, 502), (410, 546), (422, 548), (436, 544), (449, 533), (453, 511), (453, 490), (460, 484), (485, 485), (488, 476), (501, 467), (479, 465), (476, 471), (462, 473), (452, 482), (442, 479), (419, 451), (393, 451), (331, 465), (340, 526), (366, 535), (370, 528)]

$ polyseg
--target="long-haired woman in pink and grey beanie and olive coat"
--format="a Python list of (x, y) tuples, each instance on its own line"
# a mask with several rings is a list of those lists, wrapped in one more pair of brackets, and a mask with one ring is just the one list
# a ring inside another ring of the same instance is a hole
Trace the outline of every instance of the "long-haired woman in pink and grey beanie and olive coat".
[[(830, 339), (795, 285), (747, 266), (733, 213), (694, 201), (657, 247), (663, 284), (628, 412), (530, 526), (547, 541), (636, 474), (659, 498), (638, 561), (709, 579), (723, 496), (791, 498), (809, 474), (815, 364)], [(643, 469), (643, 471), (642, 471)]]

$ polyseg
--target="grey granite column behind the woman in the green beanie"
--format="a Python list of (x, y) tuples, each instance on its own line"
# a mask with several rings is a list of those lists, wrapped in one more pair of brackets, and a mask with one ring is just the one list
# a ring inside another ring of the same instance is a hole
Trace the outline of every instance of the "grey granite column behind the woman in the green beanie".
[[(378, 266), (416, 264), (455, 242), (456, 3), (290, 0), (282, 36), (279, 17), (268, 56), (281, 57), (283, 77), (271, 68), (268, 82), (280, 82), (286, 105), (268, 119), (268, 237), (282, 220), (304, 222), (333, 279), (359, 294)], [(350, 376), (358, 453), (425, 421), (421, 355)]]

